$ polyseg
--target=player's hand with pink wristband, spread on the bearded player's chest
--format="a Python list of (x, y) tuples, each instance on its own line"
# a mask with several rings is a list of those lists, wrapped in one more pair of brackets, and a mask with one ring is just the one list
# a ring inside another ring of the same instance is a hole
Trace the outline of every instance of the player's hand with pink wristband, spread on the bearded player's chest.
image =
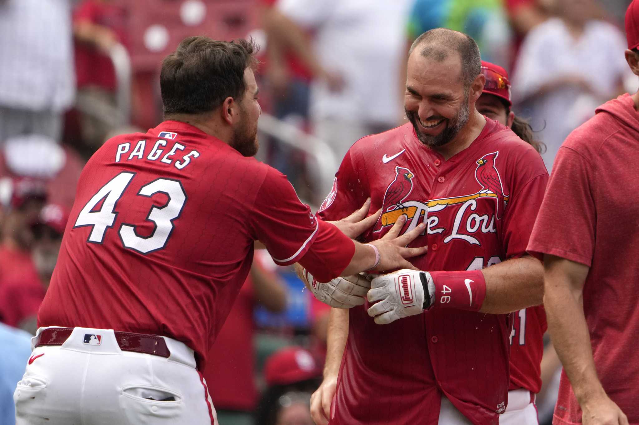
[(426, 254), (428, 247), (406, 248), (406, 245), (415, 240), (415, 238), (426, 229), (426, 225), (420, 223), (418, 226), (415, 226), (415, 229), (404, 233), (402, 236), (397, 236), (405, 222), (406, 215), (400, 215), (393, 227), (390, 228), (389, 232), (385, 234), (383, 238), (369, 242), (369, 245), (375, 245), (380, 251), (380, 264), (378, 264), (374, 270), (417, 270), (413, 264), (406, 261), (406, 258)]

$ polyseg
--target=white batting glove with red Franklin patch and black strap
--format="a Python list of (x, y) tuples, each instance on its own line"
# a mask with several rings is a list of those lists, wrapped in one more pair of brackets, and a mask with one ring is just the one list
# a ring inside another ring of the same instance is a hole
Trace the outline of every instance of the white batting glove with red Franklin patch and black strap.
[(435, 284), (430, 273), (410, 269), (398, 270), (373, 279), (368, 300), (374, 303), (368, 315), (377, 324), (389, 324), (433, 305)]

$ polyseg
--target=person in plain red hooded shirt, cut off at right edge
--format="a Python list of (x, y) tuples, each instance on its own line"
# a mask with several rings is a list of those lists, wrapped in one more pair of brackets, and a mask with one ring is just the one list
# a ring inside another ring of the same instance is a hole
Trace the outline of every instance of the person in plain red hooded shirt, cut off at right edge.
[[(626, 36), (639, 75), (637, 0)], [(568, 136), (528, 245), (544, 260), (548, 328), (564, 365), (553, 424), (639, 424), (639, 203), (629, 199), (639, 192), (638, 111), (639, 92), (624, 94)]]

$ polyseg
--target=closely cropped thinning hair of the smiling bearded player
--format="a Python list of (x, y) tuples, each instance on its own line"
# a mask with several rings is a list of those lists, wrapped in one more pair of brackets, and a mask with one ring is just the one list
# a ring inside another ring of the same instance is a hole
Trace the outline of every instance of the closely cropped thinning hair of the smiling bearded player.
[(412, 54), (419, 47), (423, 57), (429, 57), (437, 62), (445, 60), (450, 52), (458, 52), (461, 57), (461, 78), (466, 89), (481, 73), (481, 55), (479, 46), (472, 37), (463, 32), (447, 28), (435, 28), (424, 32), (413, 41), (408, 50)]

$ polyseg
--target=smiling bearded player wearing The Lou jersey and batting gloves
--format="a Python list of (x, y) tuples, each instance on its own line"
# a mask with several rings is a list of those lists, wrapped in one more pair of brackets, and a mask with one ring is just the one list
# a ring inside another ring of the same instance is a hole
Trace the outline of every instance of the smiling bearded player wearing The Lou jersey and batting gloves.
[(407, 217), (407, 231), (427, 224), (413, 244), (429, 247), (412, 260), (429, 272), (377, 278), (349, 310), (330, 424), (495, 425), (505, 410), (504, 313), (541, 303), (541, 263), (525, 249), (548, 173), (533, 147), (475, 109), (485, 78), (472, 38), (422, 34), (408, 60), (410, 124), (355, 143), (321, 206), (324, 219), (343, 217), (370, 196), (382, 214), (366, 240)]

